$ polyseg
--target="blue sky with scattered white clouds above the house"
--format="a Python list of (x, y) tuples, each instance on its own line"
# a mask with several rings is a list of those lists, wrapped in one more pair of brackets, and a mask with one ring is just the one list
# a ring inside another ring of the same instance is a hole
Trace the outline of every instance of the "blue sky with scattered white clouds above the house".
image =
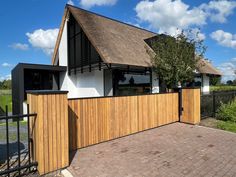
[(0, 6), (0, 80), (19, 62), (50, 64), (66, 3), (154, 32), (200, 33), (205, 57), (236, 79), (236, 1), (187, 0), (13, 0)]

